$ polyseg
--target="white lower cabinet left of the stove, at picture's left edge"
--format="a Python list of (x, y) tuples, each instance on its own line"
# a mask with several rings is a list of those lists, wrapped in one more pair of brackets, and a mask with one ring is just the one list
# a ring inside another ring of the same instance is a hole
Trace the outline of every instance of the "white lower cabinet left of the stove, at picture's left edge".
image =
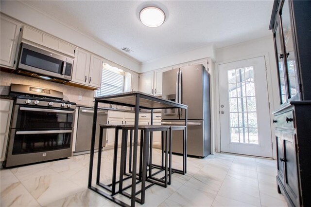
[(13, 100), (1, 99), (0, 100), (0, 161), (5, 160), (6, 147), (8, 143), (8, 136), (11, 124), (11, 115), (13, 108)]

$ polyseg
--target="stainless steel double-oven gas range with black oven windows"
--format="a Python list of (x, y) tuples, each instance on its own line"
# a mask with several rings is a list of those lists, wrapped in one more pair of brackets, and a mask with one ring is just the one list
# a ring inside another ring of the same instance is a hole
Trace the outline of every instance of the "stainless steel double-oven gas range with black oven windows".
[(71, 156), (76, 104), (51, 89), (11, 84), (14, 107), (4, 167)]

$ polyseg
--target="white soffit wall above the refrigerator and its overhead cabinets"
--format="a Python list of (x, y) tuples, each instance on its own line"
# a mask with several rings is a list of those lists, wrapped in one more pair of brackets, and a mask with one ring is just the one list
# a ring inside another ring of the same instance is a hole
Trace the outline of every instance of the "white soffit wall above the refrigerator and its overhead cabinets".
[(165, 56), (150, 61), (141, 63), (140, 73), (152, 71), (160, 68), (166, 68), (173, 65), (178, 65), (184, 62), (190, 62), (197, 59), (210, 57), (215, 59), (215, 48), (213, 45), (208, 45), (184, 53), (178, 53), (171, 56)]

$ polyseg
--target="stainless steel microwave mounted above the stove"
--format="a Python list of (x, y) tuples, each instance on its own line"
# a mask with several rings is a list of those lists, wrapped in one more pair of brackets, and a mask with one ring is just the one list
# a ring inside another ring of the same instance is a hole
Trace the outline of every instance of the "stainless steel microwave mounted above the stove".
[(17, 73), (55, 82), (71, 80), (73, 59), (21, 43)]

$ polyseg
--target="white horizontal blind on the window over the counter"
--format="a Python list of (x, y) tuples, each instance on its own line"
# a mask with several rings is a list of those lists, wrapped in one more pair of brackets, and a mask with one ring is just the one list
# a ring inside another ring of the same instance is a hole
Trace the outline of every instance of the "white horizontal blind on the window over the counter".
[(96, 96), (122, 93), (123, 84), (124, 75), (104, 68), (101, 89), (96, 91)]

